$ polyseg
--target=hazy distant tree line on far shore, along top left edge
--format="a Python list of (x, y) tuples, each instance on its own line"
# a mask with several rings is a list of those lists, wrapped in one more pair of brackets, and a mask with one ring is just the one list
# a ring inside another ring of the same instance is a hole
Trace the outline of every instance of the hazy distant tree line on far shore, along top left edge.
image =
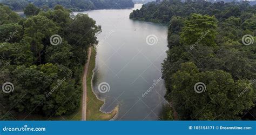
[(124, 9), (133, 8), (132, 0), (2, 0), (2, 3), (8, 5), (12, 10), (22, 10), (29, 3), (33, 3), (39, 8), (54, 8), (56, 5), (62, 5), (72, 11), (86, 11), (95, 9)]

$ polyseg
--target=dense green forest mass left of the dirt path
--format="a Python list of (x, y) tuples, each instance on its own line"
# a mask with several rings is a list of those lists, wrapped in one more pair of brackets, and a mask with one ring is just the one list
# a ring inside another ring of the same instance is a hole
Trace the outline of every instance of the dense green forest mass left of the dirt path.
[(26, 10), (29, 15), (21, 18), (0, 4), (0, 119), (73, 114), (81, 105), (87, 49), (98, 43), (101, 28), (86, 14), (70, 16), (61, 5)]

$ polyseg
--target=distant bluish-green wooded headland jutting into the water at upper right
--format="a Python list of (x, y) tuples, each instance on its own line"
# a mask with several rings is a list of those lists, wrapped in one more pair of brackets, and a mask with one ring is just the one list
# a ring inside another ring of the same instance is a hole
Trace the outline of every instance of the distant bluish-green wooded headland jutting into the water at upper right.
[(250, 6), (246, 2), (211, 3), (206, 1), (187, 1), (183, 3), (179, 0), (166, 0), (161, 3), (150, 2), (144, 4), (140, 10), (134, 10), (130, 14), (130, 18), (142, 21), (169, 23), (173, 16), (187, 17), (195, 13), (215, 16), (219, 21), (223, 21), (231, 16), (238, 17), (243, 15), (246, 17), (245, 12), (250, 14), (255, 11), (255, 6)]

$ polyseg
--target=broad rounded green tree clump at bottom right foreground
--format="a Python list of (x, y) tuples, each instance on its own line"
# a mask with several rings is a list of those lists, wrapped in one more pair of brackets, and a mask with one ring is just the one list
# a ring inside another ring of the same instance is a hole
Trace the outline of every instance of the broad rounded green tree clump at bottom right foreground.
[[(246, 80), (234, 81), (224, 71), (199, 72), (193, 63), (181, 64), (172, 76), (172, 102), (179, 118), (188, 120), (239, 120), (243, 110), (253, 104), (252, 87), (238, 98), (238, 94), (250, 86)], [(203, 82), (206, 91), (197, 93), (194, 85)], [(189, 102), (187, 102), (189, 100)], [(246, 103), (246, 104), (244, 104)]]

